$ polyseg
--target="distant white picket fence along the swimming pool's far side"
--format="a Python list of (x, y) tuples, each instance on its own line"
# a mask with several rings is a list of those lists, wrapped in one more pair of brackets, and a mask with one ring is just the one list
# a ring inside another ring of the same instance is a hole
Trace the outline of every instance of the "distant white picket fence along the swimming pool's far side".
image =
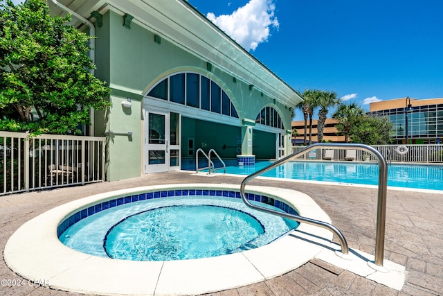
[[(388, 162), (420, 162), (420, 163), (443, 163), (443, 145), (379, 145), (372, 146), (379, 150)], [(302, 150), (305, 146), (293, 146), (292, 152)], [(330, 149), (316, 149), (305, 155), (301, 155), (298, 159), (305, 160), (321, 160), (325, 158), (326, 150)], [(347, 151), (348, 150), (348, 151)], [(375, 161), (372, 155), (364, 153), (362, 150), (355, 151), (353, 155), (346, 159), (347, 155), (351, 154), (350, 149), (334, 149), (334, 160), (356, 160), (356, 161)], [(352, 149), (354, 150), (354, 149)]]

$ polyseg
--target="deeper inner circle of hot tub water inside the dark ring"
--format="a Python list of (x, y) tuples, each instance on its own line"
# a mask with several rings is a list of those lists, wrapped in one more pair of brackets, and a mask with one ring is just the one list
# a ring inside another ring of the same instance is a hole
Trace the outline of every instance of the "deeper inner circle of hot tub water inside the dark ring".
[(135, 214), (112, 227), (105, 250), (114, 259), (197, 259), (231, 254), (264, 234), (253, 216), (212, 205), (161, 207)]

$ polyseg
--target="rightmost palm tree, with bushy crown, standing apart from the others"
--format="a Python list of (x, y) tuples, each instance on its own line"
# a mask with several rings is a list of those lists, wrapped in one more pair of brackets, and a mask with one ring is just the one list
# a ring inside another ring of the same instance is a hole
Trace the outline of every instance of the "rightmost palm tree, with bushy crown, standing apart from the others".
[(350, 139), (350, 131), (352, 126), (361, 119), (365, 111), (356, 103), (340, 103), (332, 118), (336, 119), (339, 124), (336, 125), (338, 132), (345, 134), (345, 143)]

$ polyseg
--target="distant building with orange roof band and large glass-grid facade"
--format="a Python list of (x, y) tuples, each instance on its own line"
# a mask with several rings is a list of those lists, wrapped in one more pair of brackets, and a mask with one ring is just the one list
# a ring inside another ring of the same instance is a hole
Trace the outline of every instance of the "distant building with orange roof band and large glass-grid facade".
[[(406, 122), (406, 110), (408, 121)], [(412, 110), (411, 110), (412, 109)], [(394, 124), (394, 143), (413, 144), (442, 143), (443, 140), (443, 98), (396, 98), (389, 101), (370, 103), (369, 114), (388, 116)]]

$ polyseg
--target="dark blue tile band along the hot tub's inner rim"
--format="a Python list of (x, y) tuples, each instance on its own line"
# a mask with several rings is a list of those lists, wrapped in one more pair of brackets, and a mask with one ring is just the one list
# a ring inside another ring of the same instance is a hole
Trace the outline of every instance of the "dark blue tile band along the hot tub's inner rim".
[[(82, 209), (80, 211), (75, 212), (68, 218), (64, 219), (62, 223), (57, 227), (57, 236), (60, 237), (63, 232), (66, 231), (69, 227), (78, 223), (78, 221), (83, 220), (93, 214), (99, 213), (100, 211), (105, 211), (106, 209), (111, 209), (113, 207), (118, 207), (122, 204), (129, 204), (131, 202), (138, 202), (140, 200), (150, 200), (152, 198), (172, 198), (174, 196), (213, 196), (219, 198), (242, 198), (239, 191), (230, 191), (230, 190), (215, 190), (215, 189), (183, 189), (183, 190), (168, 190), (168, 191), (154, 191), (141, 193), (137, 195), (128, 195), (123, 198), (115, 198), (114, 200), (107, 200), (105, 202), (100, 202), (98, 204), (94, 204), (92, 206), (87, 207), (86, 209)], [(246, 198), (248, 200), (255, 200), (256, 202), (264, 202), (269, 200), (266, 195), (254, 194), (254, 193), (246, 193)], [(273, 200), (273, 206), (278, 209), (282, 209), (289, 214), (296, 214), (297, 211), (292, 207), (289, 207), (285, 202), (281, 202), (280, 200)]]

